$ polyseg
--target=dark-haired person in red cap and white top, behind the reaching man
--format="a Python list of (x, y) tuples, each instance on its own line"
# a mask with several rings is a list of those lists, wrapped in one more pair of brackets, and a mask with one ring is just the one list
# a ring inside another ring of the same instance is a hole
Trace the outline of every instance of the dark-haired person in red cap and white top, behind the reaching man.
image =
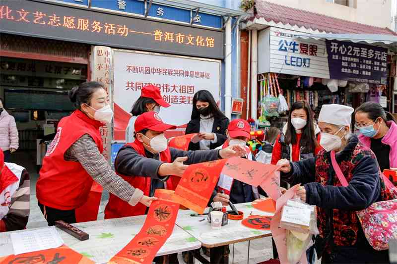
[(134, 142), (133, 128), (136, 118), (144, 112), (155, 111), (160, 112), (161, 107), (169, 107), (170, 104), (165, 102), (161, 97), (160, 90), (158, 87), (148, 84), (142, 87), (140, 97), (135, 101), (131, 110), (131, 118), (128, 121), (126, 129), (126, 142)]

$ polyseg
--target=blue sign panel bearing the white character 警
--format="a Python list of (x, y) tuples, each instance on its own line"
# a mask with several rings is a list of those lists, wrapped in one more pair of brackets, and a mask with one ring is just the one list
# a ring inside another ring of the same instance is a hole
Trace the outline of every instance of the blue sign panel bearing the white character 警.
[(145, 3), (139, 0), (91, 0), (92, 7), (144, 15)]

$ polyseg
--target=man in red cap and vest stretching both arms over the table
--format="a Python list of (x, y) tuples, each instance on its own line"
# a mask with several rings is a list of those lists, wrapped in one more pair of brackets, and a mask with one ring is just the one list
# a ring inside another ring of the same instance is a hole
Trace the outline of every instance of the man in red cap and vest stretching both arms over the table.
[[(156, 189), (175, 190), (189, 164), (240, 157), (246, 153), (246, 149), (238, 145), (222, 150), (188, 152), (168, 148), (164, 131), (175, 128), (174, 125), (163, 123), (157, 112), (139, 115), (135, 121), (135, 141), (121, 148), (115, 159), (116, 173), (134, 188), (142, 190), (144, 195), (152, 197)], [(147, 210), (144, 205), (132, 207), (110, 194), (105, 218), (140, 215)]]

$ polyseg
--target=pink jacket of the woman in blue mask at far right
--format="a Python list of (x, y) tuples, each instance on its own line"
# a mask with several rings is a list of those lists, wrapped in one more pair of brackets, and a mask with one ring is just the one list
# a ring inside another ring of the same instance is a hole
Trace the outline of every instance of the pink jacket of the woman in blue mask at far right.
[[(397, 124), (394, 121), (388, 121), (389, 132), (383, 137), (382, 143), (390, 146), (389, 162), (390, 166), (397, 168)], [(371, 148), (371, 138), (359, 135), (358, 139), (361, 144)]]

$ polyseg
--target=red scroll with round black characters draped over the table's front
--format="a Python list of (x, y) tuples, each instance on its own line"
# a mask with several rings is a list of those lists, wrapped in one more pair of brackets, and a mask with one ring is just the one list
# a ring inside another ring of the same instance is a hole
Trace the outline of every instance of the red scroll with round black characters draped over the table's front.
[(158, 189), (145, 223), (139, 233), (111, 260), (110, 264), (151, 264), (159, 249), (174, 229), (179, 204), (173, 202), (173, 191)]

